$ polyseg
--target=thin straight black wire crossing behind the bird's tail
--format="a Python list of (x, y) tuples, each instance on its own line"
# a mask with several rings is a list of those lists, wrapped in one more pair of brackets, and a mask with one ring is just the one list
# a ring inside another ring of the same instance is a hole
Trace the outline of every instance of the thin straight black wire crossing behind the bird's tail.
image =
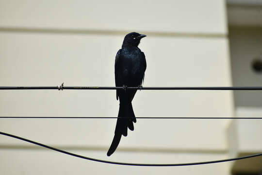
[[(118, 119), (118, 117), (0, 117), (0, 119)], [(262, 117), (136, 117), (136, 119), (262, 119)]]

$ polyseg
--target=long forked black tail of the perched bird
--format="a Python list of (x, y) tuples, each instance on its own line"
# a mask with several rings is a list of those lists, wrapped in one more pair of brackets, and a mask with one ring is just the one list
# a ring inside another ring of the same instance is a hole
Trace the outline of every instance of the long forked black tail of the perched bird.
[(133, 122), (136, 123), (136, 119), (131, 102), (120, 103), (119, 111), (118, 111), (118, 119), (115, 126), (115, 136), (107, 152), (107, 156), (110, 156), (115, 152), (121, 140), (121, 136), (122, 135), (127, 136), (128, 128), (131, 131), (134, 130)]

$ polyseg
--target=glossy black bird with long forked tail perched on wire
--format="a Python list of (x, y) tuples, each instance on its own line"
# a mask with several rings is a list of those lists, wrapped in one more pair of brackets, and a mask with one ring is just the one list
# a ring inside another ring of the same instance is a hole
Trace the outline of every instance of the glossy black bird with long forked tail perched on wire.
[(122, 49), (115, 56), (115, 86), (123, 87), (116, 90), (116, 100), (120, 101), (118, 119), (115, 126), (115, 136), (107, 152), (112, 155), (117, 148), (121, 136), (127, 136), (128, 128), (133, 131), (136, 123), (132, 100), (136, 89), (128, 90), (127, 87), (141, 87), (147, 68), (146, 57), (138, 48), (140, 39), (147, 35), (132, 32), (125, 36)]

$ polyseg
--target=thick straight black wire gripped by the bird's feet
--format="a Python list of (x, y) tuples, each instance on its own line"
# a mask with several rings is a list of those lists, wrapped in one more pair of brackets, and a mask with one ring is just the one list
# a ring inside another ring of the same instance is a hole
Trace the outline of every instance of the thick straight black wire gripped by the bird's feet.
[[(114, 90), (123, 87), (0, 87), (0, 90), (23, 90), (23, 89), (82, 89), (82, 90)], [(126, 89), (139, 90), (262, 90), (262, 87), (127, 87)]]

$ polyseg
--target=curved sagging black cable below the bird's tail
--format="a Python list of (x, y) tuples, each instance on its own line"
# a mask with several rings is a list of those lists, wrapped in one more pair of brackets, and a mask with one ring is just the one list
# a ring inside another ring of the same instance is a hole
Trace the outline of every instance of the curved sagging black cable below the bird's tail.
[(148, 163), (125, 163), (125, 162), (114, 162), (114, 161), (107, 161), (107, 160), (101, 160), (101, 159), (96, 159), (96, 158), (91, 158), (91, 157), (85, 157), (85, 156), (81, 156), (81, 155), (77, 155), (74, 153), (70, 153), (58, 148), (54, 148), (42, 143), (38, 143), (35, 142), (33, 140), (28, 140), (25, 138), (21, 138), (12, 134), (8, 134), (8, 133), (4, 133), (4, 132), (0, 132), (1, 135), (5, 135), (8, 137), (12, 137), (12, 138), (16, 138), (19, 140), (23, 140), (23, 141), (27, 141), (54, 151), (58, 151), (60, 153), (64, 153), (70, 156), (74, 156), (74, 157), (79, 157), (79, 158), (83, 158), (83, 159), (87, 159), (87, 160), (91, 160), (91, 161), (96, 161), (96, 162), (101, 162), (101, 163), (110, 163), (110, 164), (116, 164), (116, 165), (130, 165), (130, 166), (189, 166), (189, 165), (201, 165), (201, 164), (211, 164), (211, 163), (220, 163), (220, 162), (227, 162), (227, 161), (234, 161), (234, 160), (240, 160), (240, 159), (245, 159), (245, 158), (251, 158), (251, 157), (258, 157), (258, 156), (262, 156), (262, 153), (259, 154), (254, 154), (254, 155), (249, 155), (249, 156), (244, 156), (244, 157), (236, 157), (236, 158), (229, 158), (229, 159), (222, 159), (222, 160), (213, 160), (213, 161), (204, 161), (204, 162), (192, 162), (192, 163), (172, 163), (172, 164), (148, 164)]

